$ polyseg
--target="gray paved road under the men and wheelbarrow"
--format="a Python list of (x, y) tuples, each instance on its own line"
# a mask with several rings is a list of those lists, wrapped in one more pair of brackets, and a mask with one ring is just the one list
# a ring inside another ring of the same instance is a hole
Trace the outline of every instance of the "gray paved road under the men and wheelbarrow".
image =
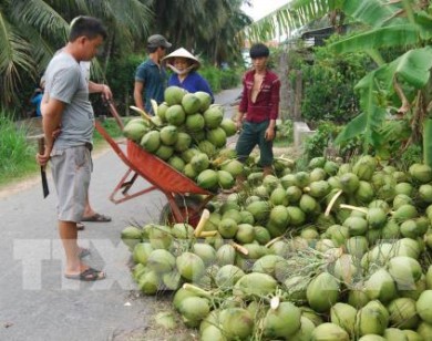
[[(224, 91), (216, 103), (229, 106), (239, 90)], [(155, 298), (137, 297), (130, 278), (130, 252), (120, 241), (128, 224), (157, 221), (165, 204), (158, 192), (114, 205), (107, 197), (126, 170), (110, 148), (94, 155), (90, 188), (97, 211), (112, 223), (88, 223), (81, 245), (91, 248), (86, 261), (103, 268), (107, 279), (94, 283), (62, 276), (63, 252), (55, 225), (56, 196), (42, 199), (39, 177), (0, 190), (0, 340), (126, 340), (148, 327)], [(141, 180), (140, 186), (146, 186)]]

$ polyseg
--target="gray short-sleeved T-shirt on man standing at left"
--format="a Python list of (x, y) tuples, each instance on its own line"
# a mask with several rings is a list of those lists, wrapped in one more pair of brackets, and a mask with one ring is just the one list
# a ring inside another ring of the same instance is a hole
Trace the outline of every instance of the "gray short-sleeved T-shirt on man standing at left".
[(93, 107), (89, 101), (89, 80), (80, 63), (69, 53), (60, 52), (45, 71), (45, 95), (65, 103), (61, 134), (55, 149), (92, 143), (94, 128)]

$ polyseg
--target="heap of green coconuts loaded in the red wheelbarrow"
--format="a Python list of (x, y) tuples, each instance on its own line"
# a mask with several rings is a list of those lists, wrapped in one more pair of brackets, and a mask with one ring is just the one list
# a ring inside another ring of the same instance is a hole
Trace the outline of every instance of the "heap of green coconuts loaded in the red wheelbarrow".
[[(168, 86), (164, 99), (158, 106), (152, 102), (155, 116), (131, 120), (124, 135), (198, 186), (213, 192), (230, 188), (241, 164), (233, 159), (233, 149), (225, 148), (237, 128), (233, 120), (224, 118), (224, 107), (212, 104), (206, 92), (188, 93), (178, 86)], [(226, 159), (232, 165), (220, 167)]]

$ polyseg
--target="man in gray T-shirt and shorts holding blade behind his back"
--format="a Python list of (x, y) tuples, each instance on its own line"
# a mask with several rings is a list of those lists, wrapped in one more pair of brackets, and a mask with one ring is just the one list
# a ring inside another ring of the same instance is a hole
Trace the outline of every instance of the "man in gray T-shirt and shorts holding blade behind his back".
[[(94, 128), (89, 84), (80, 62), (90, 61), (106, 38), (101, 21), (80, 17), (74, 21), (66, 46), (50, 61), (45, 71), (45, 92), (41, 104), (45, 151), (38, 154), (51, 169), (59, 197), (59, 234), (66, 265), (64, 276), (78, 280), (105, 278), (103, 271), (83, 264), (78, 246), (76, 223), (81, 220), (91, 175), (91, 149)], [(53, 132), (61, 126), (61, 134)]]

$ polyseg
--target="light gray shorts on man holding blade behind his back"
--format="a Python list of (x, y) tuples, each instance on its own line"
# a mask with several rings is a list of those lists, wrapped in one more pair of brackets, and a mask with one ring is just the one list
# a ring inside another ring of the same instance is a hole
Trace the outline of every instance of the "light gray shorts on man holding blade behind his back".
[(52, 177), (59, 197), (59, 220), (81, 221), (92, 167), (91, 151), (88, 146), (54, 148), (51, 152)]

